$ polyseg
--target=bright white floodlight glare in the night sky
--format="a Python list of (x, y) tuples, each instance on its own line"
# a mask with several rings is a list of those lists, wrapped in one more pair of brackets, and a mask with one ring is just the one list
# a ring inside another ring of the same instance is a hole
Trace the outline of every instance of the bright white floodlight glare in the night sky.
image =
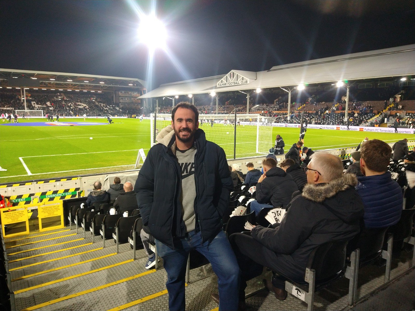
[(138, 27), (139, 39), (150, 51), (166, 46), (167, 32), (164, 24), (152, 15), (143, 15)]

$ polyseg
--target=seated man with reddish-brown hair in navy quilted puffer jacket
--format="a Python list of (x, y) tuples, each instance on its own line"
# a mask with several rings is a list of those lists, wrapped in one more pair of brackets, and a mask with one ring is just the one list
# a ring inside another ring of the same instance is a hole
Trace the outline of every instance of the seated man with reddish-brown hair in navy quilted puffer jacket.
[(403, 205), (402, 189), (388, 170), (392, 149), (384, 141), (372, 139), (361, 148), (356, 191), (364, 204), (366, 228), (383, 228), (396, 224)]

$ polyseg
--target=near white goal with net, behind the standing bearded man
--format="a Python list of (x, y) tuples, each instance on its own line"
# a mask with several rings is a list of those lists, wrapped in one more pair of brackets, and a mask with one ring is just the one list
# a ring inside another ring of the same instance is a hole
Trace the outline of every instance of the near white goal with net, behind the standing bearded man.
[[(171, 114), (157, 114), (154, 126), (154, 114), (150, 117), (151, 145), (155, 134), (171, 125)], [(227, 159), (247, 158), (269, 153), (274, 146), (272, 137), (275, 117), (261, 117), (259, 114), (237, 114), (236, 145), (234, 114), (199, 114), (199, 128), (203, 129), (206, 139), (217, 143), (223, 148)]]

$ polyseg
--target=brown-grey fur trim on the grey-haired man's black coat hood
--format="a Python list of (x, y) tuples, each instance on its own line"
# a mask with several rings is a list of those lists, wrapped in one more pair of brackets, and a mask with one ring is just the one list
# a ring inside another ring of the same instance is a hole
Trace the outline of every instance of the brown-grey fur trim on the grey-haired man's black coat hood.
[(321, 203), (325, 199), (334, 197), (338, 192), (347, 190), (349, 187), (357, 185), (356, 176), (344, 174), (342, 177), (332, 180), (324, 185), (307, 184), (303, 190), (303, 197), (306, 199)]

